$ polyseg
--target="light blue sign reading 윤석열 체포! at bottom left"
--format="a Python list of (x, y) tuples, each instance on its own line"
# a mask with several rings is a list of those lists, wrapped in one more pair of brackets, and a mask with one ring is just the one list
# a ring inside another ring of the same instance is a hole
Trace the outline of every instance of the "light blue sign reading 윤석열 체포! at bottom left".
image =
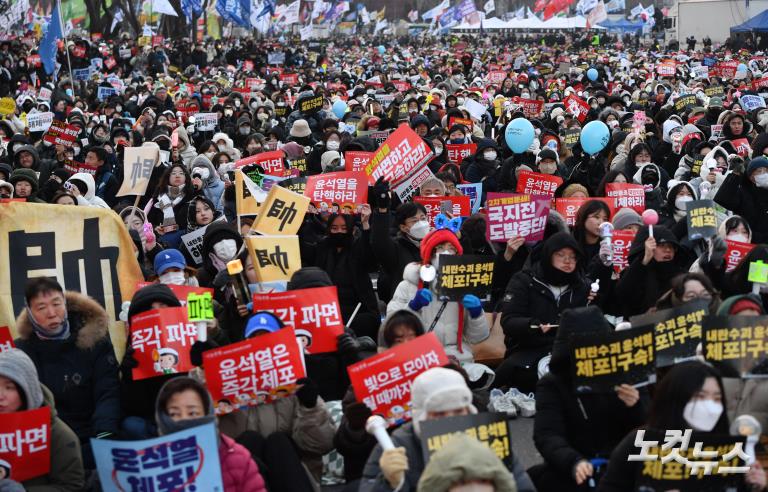
[(105, 491), (223, 492), (213, 422), (140, 441), (91, 439)]

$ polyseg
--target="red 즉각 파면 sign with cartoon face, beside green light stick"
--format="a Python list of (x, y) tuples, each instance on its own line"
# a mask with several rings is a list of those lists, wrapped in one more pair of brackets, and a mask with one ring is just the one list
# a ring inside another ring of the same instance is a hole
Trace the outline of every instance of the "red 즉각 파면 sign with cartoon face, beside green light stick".
[(197, 326), (188, 321), (186, 307), (153, 309), (131, 318), (131, 348), (139, 366), (133, 379), (188, 372), (194, 367), (189, 349), (197, 340)]

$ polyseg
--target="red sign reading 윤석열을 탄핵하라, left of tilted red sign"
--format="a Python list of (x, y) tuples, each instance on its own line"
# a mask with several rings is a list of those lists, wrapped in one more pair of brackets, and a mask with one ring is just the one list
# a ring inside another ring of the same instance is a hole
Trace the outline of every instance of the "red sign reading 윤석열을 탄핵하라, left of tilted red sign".
[(304, 196), (313, 203), (338, 203), (340, 208), (353, 211), (357, 205), (368, 203), (368, 177), (363, 171), (339, 171), (309, 176)]

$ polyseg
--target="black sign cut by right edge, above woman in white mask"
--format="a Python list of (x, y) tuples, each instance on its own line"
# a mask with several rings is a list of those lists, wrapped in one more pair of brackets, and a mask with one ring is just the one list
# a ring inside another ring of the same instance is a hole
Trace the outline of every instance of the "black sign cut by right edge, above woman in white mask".
[(768, 316), (707, 316), (704, 358), (727, 377), (768, 377)]

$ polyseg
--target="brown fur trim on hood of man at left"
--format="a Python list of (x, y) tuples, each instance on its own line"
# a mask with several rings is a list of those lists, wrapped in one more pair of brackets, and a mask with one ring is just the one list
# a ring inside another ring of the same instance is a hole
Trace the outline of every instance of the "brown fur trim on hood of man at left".
[[(104, 337), (109, 335), (109, 316), (101, 305), (79, 292), (66, 291), (67, 317), (72, 334), (76, 337), (75, 345), (80, 350), (90, 350)], [(27, 310), (16, 319), (16, 330), (22, 340), (28, 340), (34, 334)]]

